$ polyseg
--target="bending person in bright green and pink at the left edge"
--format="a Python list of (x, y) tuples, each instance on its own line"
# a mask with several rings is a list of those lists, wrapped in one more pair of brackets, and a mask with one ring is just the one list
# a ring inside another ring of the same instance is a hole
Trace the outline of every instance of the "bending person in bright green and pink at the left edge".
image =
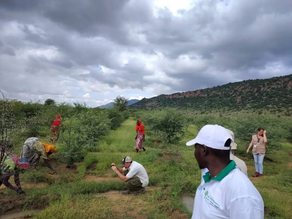
[[(3, 159), (4, 161), (0, 170), (0, 186), (3, 183), (7, 188), (14, 190), (18, 194), (25, 193), (20, 186), (19, 174), (24, 169), (29, 168), (29, 161), (25, 158), (18, 158), (11, 153), (4, 153), (3, 158), (5, 159)], [(14, 182), (16, 186), (9, 183), (9, 178), (12, 175), (14, 175)]]

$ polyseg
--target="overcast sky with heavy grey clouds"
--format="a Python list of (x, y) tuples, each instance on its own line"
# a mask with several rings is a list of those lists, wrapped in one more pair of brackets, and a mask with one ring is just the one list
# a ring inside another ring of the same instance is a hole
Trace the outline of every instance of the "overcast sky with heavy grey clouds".
[(287, 75), (291, 26), (291, 0), (1, 0), (0, 89), (96, 107)]

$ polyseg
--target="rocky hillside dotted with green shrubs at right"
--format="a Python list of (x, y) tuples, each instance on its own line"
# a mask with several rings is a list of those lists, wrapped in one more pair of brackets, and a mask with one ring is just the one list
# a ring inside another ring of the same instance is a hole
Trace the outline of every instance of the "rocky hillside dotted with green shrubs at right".
[[(269, 109), (281, 112), (292, 106), (292, 74), (269, 79), (228, 83), (196, 91), (144, 98), (130, 106), (154, 109), (174, 106), (182, 109)], [(288, 111), (287, 111), (288, 112)]]

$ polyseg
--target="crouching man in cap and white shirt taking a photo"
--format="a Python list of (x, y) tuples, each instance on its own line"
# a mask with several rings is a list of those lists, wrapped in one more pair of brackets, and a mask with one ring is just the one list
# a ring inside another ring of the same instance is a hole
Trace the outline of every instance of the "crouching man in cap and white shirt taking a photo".
[(149, 178), (145, 168), (138, 162), (132, 161), (131, 157), (125, 157), (120, 164), (123, 164), (124, 168), (116, 167), (116, 164), (113, 163), (112, 170), (126, 183), (127, 190), (122, 192), (122, 194), (139, 195), (145, 193), (146, 186), (149, 184)]

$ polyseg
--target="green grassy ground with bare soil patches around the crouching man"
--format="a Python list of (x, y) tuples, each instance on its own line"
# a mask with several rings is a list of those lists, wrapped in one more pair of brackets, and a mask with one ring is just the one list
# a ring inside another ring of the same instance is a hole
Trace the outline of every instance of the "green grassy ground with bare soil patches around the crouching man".
[[(77, 163), (77, 168), (66, 168), (52, 155), (58, 175), (50, 174), (41, 160), (41, 168), (20, 175), (25, 195), (1, 190), (1, 186), (0, 211), (6, 212), (6, 218), (9, 210), (22, 208), (36, 209), (39, 213), (34, 218), (190, 218), (192, 212), (181, 197), (194, 196), (201, 180), (194, 148), (185, 146), (197, 134), (196, 126), (188, 128), (181, 142), (168, 146), (152, 139), (146, 130), (147, 151), (138, 154), (134, 150), (134, 128), (135, 120), (126, 120), (102, 139), (96, 152)], [(246, 162), (248, 176), (264, 199), (266, 218), (292, 218), (292, 145), (279, 144), (282, 150), (264, 159), (263, 178), (251, 177), (254, 162), (252, 155), (245, 153), (248, 145), (238, 143), (235, 154)], [(58, 144), (56, 147), (58, 152)], [(120, 194), (125, 185), (110, 164), (119, 166), (125, 156), (141, 163), (149, 174), (149, 188), (143, 195)]]

